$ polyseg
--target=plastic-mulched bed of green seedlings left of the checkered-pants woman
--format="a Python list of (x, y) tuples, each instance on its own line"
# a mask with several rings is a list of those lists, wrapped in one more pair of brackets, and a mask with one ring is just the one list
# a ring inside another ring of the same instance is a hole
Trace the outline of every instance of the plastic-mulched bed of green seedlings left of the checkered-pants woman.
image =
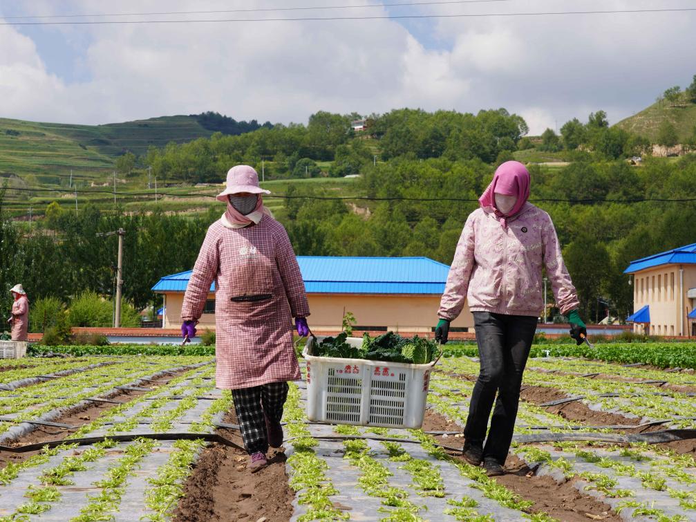
[[(138, 425), (137, 421), (145, 419), (150, 422), (152, 432), (162, 432), (177, 425), (186, 413), (198, 419), (195, 431), (212, 432), (214, 416), (227, 411), (232, 400), (230, 393), (222, 393), (221, 397), (213, 401), (196, 399), (195, 395), (212, 389), (211, 375), (211, 368), (203, 371), (190, 370), (157, 390), (105, 411), (74, 436), (104, 434), (105, 429), (106, 434), (132, 432)], [(182, 396), (184, 398), (180, 398)], [(131, 420), (136, 422), (130, 422)], [(17, 520), (27, 509), (47, 511), (54, 505), (57, 506), (58, 502), (61, 503), (62, 514), (67, 499), (61, 500), (61, 493), (63, 496), (73, 495), (70, 488), (65, 487), (72, 482), (82, 485), (86, 481), (90, 489), (97, 489), (97, 495), (86, 496), (83, 493), (77, 506), (79, 513), (68, 517), (70, 520), (109, 520), (120, 507), (121, 511), (126, 509), (126, 512), (121, 512), (121, 519), (127, 520), (129, 516), (134, 516), (134, 519), (166, 520), (176, 500), (182, 495), (182, 482), (191, 472), (191, 465), (203, 446), (205, 442), (200, 439), (173, 443), (136, 439), (132, 443), (116, 445), (107, 438), (103, 443), (97, 443), (78, 453), (74, 453), (74, 446), (68, 444), (44, 450), (20, 464), (1, 470), (2, 483), (12, 483), (20, 473), (29, 473), (36, 477), (35, 480), (39, 482), (36, 486), (40, 487), (27, 489), (25, 495), (32, 499), (31, 503), (17, 506), (14, 513), (6, 518), (0, 517), (0, 521)], [(53, 465), (46, 467), (49, 461)], [(144, 478), (139, 473), (132, 479), (138, 468), (145, 468), (148, 473)], [(94, 480), (94, 477), (100, 479)], [(40, 493), (36, 493), (37, 491)], [(0, 489), (0, 498), (1, 496)], [(125, 498), (129, 502), (123, 507), (122, 499)], [(71, 506), (74, 508), (74, 505)], [(133, 509), (136, 511), (132, 512)]]

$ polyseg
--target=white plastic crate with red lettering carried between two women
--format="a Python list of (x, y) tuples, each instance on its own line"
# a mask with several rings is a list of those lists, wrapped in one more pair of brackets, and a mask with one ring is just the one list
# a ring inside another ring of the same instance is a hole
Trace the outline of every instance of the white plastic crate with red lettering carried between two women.
[[(318, 340), (321, 340), (319, 338)], [(360, 347), (361, 338), (346, 342)], [(386, 363), (363, 359), (316, 357), (315, 338), (309, 338), (307, 361), (307, 417), (315, 422), (420, 428), (430, 384), (428, 364)]]

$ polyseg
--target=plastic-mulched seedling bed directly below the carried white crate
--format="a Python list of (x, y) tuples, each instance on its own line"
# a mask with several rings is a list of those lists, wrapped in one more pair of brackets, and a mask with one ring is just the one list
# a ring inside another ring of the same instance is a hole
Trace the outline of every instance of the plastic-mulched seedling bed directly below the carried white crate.
[[(377, 516), (383, 521), (492, 521), (499, 516), (553, 520), (544, 513), (526, 513), (532, 503), (487, 477), (482, 468), (450, 457), (421, 430), (308, 425), (301, 389), (294, 384), (285, 420), (292, 444), (290, 486), (299, 493), (299, 522), (351, 516)], [(322, 440), (332, 433), (409, 438), (420, 444)]]

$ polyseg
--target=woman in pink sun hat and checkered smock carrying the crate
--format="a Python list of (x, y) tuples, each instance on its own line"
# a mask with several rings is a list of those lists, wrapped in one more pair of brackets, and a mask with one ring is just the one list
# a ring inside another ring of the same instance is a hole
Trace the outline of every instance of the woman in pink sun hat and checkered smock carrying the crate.
[(300, 378), (292, 317), (309, 334), (309, 305), (285, 228), (264, 207), (258, 174), (238, 165), (217, 196), (227, 210), (200, 247), (184, 295), (182, 336), (193, 338), (215, 281), (216, 387), (232, 390), (237, 420), (254, 473), (280, 448), (287, 381)]

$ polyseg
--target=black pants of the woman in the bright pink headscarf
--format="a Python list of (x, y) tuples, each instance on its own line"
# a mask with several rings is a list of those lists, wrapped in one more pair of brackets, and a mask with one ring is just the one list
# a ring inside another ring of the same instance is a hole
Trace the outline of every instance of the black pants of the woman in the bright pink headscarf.
[(474, 312), (481, 370), (474, 385), (464, 437), (475, 447), (483, 445), (493, 409), (491, 430), (483, 448), (484, 459), (505, 464), (512, 442), (522, 374), (537, 329), (537, 318)]

